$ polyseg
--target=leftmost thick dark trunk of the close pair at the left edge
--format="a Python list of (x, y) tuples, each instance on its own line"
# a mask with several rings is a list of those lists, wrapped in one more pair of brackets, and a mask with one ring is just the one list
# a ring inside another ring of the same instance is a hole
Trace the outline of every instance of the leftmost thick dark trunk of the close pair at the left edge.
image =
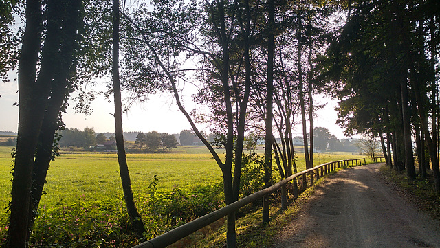
[[(36, 144), (43, 122), (45, 95), (35, 85), (36, 65), (39, 58), (42, 34), (40, 1), (26, 1), (26, 27), (19, 60), (19, 130), (13, 169), (10, 219), (6, 247), (28, 247), (29, 206), (32, 187), (32, 168)], [(35, 91), (34, 90), (38, 90)]]

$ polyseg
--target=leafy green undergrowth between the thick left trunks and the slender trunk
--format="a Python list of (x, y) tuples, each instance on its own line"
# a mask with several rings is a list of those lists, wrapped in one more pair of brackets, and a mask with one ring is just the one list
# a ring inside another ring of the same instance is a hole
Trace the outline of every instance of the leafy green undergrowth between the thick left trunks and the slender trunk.
[(131, 247), (137, 239), (123, 205), (114, 199), (93, 202), (79, 196), (71, 205), (40, 207), (30, 243), (42, 248)]

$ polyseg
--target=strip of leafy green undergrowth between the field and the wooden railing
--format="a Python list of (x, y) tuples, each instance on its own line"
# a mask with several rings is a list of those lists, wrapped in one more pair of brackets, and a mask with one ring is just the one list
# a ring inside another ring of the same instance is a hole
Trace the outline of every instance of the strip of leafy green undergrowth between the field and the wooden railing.
[[(158, 190), (153, 177), (149, 194), (136, 196), (146, 225), (146, 238), (153, 238), (194, 218), (223, 207), (221, 183), (195, 188)], [(133, 247), (135, 238), (121, 196), (39, 208), (31, 247)], [(5, 227), (5, 229), (8, 229)], [(0, 230), (0, 239), (4, 229)]]

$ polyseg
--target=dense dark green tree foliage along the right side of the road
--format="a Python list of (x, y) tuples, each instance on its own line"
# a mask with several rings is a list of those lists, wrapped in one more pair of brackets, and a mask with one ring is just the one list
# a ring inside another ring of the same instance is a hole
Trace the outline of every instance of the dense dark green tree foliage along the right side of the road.
[(439, 5), (380, 0), (350, 1), (348, 7), (338, 37), (331, 38), (319, 63), (320, 79), (340, 101), (337, 122), (346, 135), (380, 137), (384, 153), (393, 150), (388, 165), (406, 169), (412, 179), (412, 146), (421, 150), (426, 144), (440, 192), (435, 142), (440, 130)]

